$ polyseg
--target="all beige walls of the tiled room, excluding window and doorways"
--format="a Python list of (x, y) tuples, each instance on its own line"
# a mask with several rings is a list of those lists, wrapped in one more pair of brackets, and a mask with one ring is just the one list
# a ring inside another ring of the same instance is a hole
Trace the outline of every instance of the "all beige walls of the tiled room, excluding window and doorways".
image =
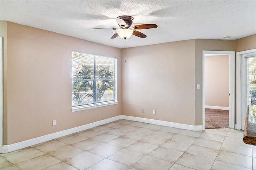
[[(202, 86), (202, 50), (235, 51), (235, 46), (237, 50), (256, 46), (255, 35), (236, 41), (162, 43), (127, 48), (124, 63), (120, 58), (124, 49), (11, 22), (1, 22), (0, 34), (4, 36), (3, 144), (121, 114), (202, 125), (202, 89), (196, 89), (196, 84)], [(118, 105), (72, 113), (73, 50), (118, 58)], [(57, 121), (54, 127), (52, 120)]]

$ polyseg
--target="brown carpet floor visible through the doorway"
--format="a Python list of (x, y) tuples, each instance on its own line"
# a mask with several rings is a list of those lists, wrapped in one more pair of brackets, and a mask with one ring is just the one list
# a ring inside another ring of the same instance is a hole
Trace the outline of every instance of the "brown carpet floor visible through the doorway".
[(228, 111), (205, 109), (205, 128), (228, 128)]

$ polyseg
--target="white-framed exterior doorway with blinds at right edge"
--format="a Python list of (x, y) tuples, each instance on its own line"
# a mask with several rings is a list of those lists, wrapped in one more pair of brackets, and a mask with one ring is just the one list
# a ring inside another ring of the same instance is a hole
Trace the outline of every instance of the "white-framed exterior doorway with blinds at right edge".
[(256, 49), (236, 53), (236, 129), (238, 130), (244, 130), (247, 106), (256, 104), (255, 62)]

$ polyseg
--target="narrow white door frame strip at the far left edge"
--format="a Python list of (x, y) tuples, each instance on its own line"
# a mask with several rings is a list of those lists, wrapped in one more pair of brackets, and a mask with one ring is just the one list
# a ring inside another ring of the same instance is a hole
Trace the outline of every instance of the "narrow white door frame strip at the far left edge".
[(0, 153), (3, 146), (3, 38), (0, 37)]

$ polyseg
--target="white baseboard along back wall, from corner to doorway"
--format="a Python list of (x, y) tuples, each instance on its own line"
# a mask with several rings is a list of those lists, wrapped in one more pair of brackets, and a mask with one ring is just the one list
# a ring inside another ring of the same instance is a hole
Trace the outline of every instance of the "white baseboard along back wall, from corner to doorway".
[(203, 130), (202, 125), (198, 125), (198, 126), (186, 125), (186, 124), (181, 124), (181, 123), (159, 121), (159, 120), (155, 120), (155, 119), (147, 119), (147, 118), (142, 118), (142, 117), (132, 117), (132, 116), (126, 116), (126, 115), (121, 115), (121, 119), (126, 119), (126, 120), (130, 120), (130, 121), (144, 122), (144, 123), (151, 123), (151, 124), (154, 124), (154, 125), (162, 125), (162, 126), (166, 126), (166, 127), (182, 128), (182, 129), (186, 129), (186, 130), (194, 130), (194, 131)]

